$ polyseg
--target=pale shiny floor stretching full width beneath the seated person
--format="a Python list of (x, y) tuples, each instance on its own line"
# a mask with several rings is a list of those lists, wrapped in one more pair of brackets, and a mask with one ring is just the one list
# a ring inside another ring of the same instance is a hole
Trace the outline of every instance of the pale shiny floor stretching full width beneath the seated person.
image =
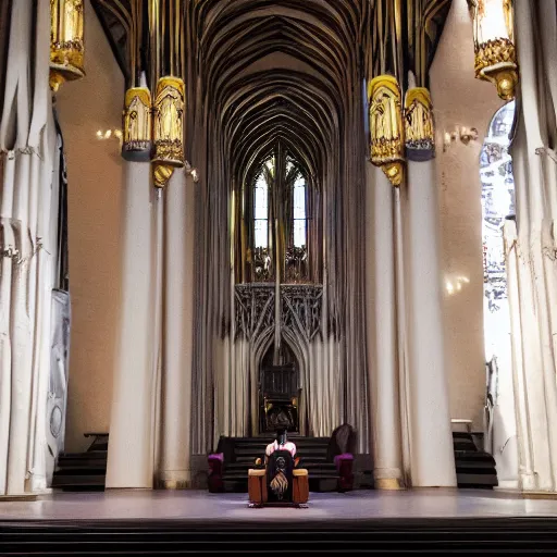
[(523, 499), (485, 491), (416, 490), (312, 493), (307, 509), (250, 509), (247, 494), (206, 491), (54, 493), (37, 500), (0, 502), (2, 521), (180, 520), (195, 522), (314, 522), (376, 519), (557, 518), (557, 500)]

